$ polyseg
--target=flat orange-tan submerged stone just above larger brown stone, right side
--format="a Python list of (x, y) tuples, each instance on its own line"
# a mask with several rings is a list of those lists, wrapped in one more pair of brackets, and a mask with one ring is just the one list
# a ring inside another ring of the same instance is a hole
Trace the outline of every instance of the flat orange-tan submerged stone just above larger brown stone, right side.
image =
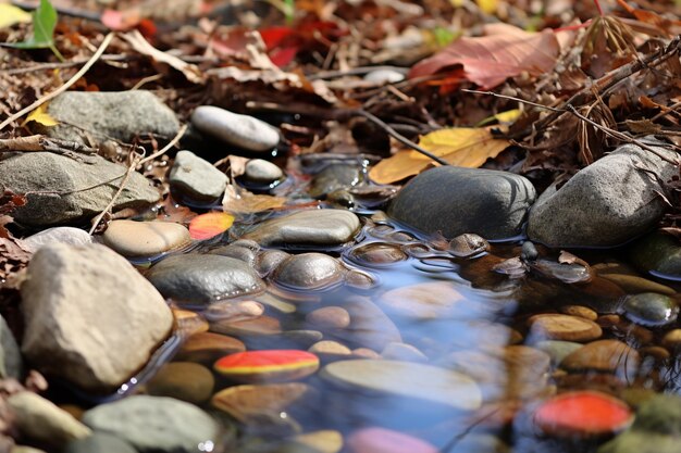
[(602, 335), (600, 326), (582, 317), (547, 314), (530, 318), (530, 336), (535, 339), (584, 342)]

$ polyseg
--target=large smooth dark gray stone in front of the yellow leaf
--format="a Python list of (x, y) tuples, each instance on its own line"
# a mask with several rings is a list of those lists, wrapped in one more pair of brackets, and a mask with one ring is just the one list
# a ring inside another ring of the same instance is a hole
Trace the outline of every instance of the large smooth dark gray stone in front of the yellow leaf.
[(447, 238), (474, 232), (485, 239), (508, 239), (522, 232), (534, 198), (534, 187), (522, 176), (442, 166), (408, 183), (391, 203), (388, 215)]

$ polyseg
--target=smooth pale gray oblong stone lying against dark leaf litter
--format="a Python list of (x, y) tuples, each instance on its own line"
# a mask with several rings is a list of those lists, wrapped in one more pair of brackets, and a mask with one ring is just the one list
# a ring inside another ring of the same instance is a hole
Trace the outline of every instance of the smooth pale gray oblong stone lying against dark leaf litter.
[(278, 131), (265, 122), (213, 105), (196, 108), (191, 123), (203, 134), (249, 151), (269, 151), (280, 140)]

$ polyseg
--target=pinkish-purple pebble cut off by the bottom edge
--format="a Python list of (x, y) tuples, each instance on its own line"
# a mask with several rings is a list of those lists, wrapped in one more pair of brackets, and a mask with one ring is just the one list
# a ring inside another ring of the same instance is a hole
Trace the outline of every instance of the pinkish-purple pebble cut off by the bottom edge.
[(351, 453), (437, 453), (433, 444), (385, 428), (362, 428), (347, 439)]

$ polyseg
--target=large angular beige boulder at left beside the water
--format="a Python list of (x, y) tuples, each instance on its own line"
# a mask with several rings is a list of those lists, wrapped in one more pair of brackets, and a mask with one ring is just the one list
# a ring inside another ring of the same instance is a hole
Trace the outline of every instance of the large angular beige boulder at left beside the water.
[(173, 326), (163, 297), (104, 246), (41, 248), (21, 293), (25, 356), (86, 391), (115, 390)]

